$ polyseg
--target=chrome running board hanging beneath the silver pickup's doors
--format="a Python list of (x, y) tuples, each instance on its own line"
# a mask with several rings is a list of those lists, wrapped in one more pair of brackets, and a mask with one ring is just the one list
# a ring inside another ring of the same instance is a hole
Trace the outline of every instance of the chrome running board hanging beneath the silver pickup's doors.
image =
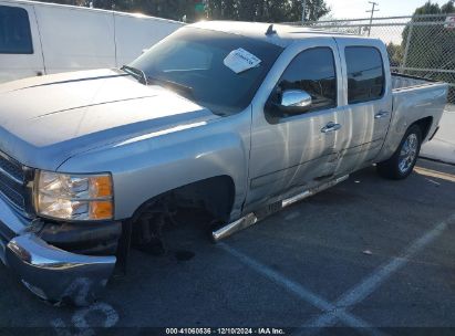
[[(331, 187), (333, 187), (338, 183), (341, 183), (341, 182), (345, 181), (348, 178), (349, 178), (349, 175), (337, 178), (337, 179), (333, 179), (333, 180), (330, 180), (330, 181), (328, 181), (323, 185), (320, 185), (320, 186), (318, 186), (313, 189), (309, 189), (309, 190), (300, 192), (296, 196), (292, 196), (290, 198), (283, 199), (281, 201), (281, 209), (286, 208), (286, 207), (289, 207), (293, 203), (297, 203), (297, 202), (299, 202), (299, 201), (301, 201), (301, 200), (303, 200), (303, 199), (306, 199), (310, 196), (313, 196), (314, 193), (318, 193), (322, 190), (329, 189), (329, 188), (331, 188)], [(238, 231), (241, 231), (244, 229), (247, 229), (247, 228), (256, 224), (258, 221), (259, 221), (259, 219), (255, 214), (255, 212), (250, 212), (247, 216), (236, 220), (235, 222), (231, 222), (231, 223), (229, 223), (229, 224), (211, 232), (213, 240), (215, 242), (218, 242), (218, 241), (220, 241), (225, 238), (228, 238), (229, 235), (231, 235), (231, 234), (234, 234)]]

